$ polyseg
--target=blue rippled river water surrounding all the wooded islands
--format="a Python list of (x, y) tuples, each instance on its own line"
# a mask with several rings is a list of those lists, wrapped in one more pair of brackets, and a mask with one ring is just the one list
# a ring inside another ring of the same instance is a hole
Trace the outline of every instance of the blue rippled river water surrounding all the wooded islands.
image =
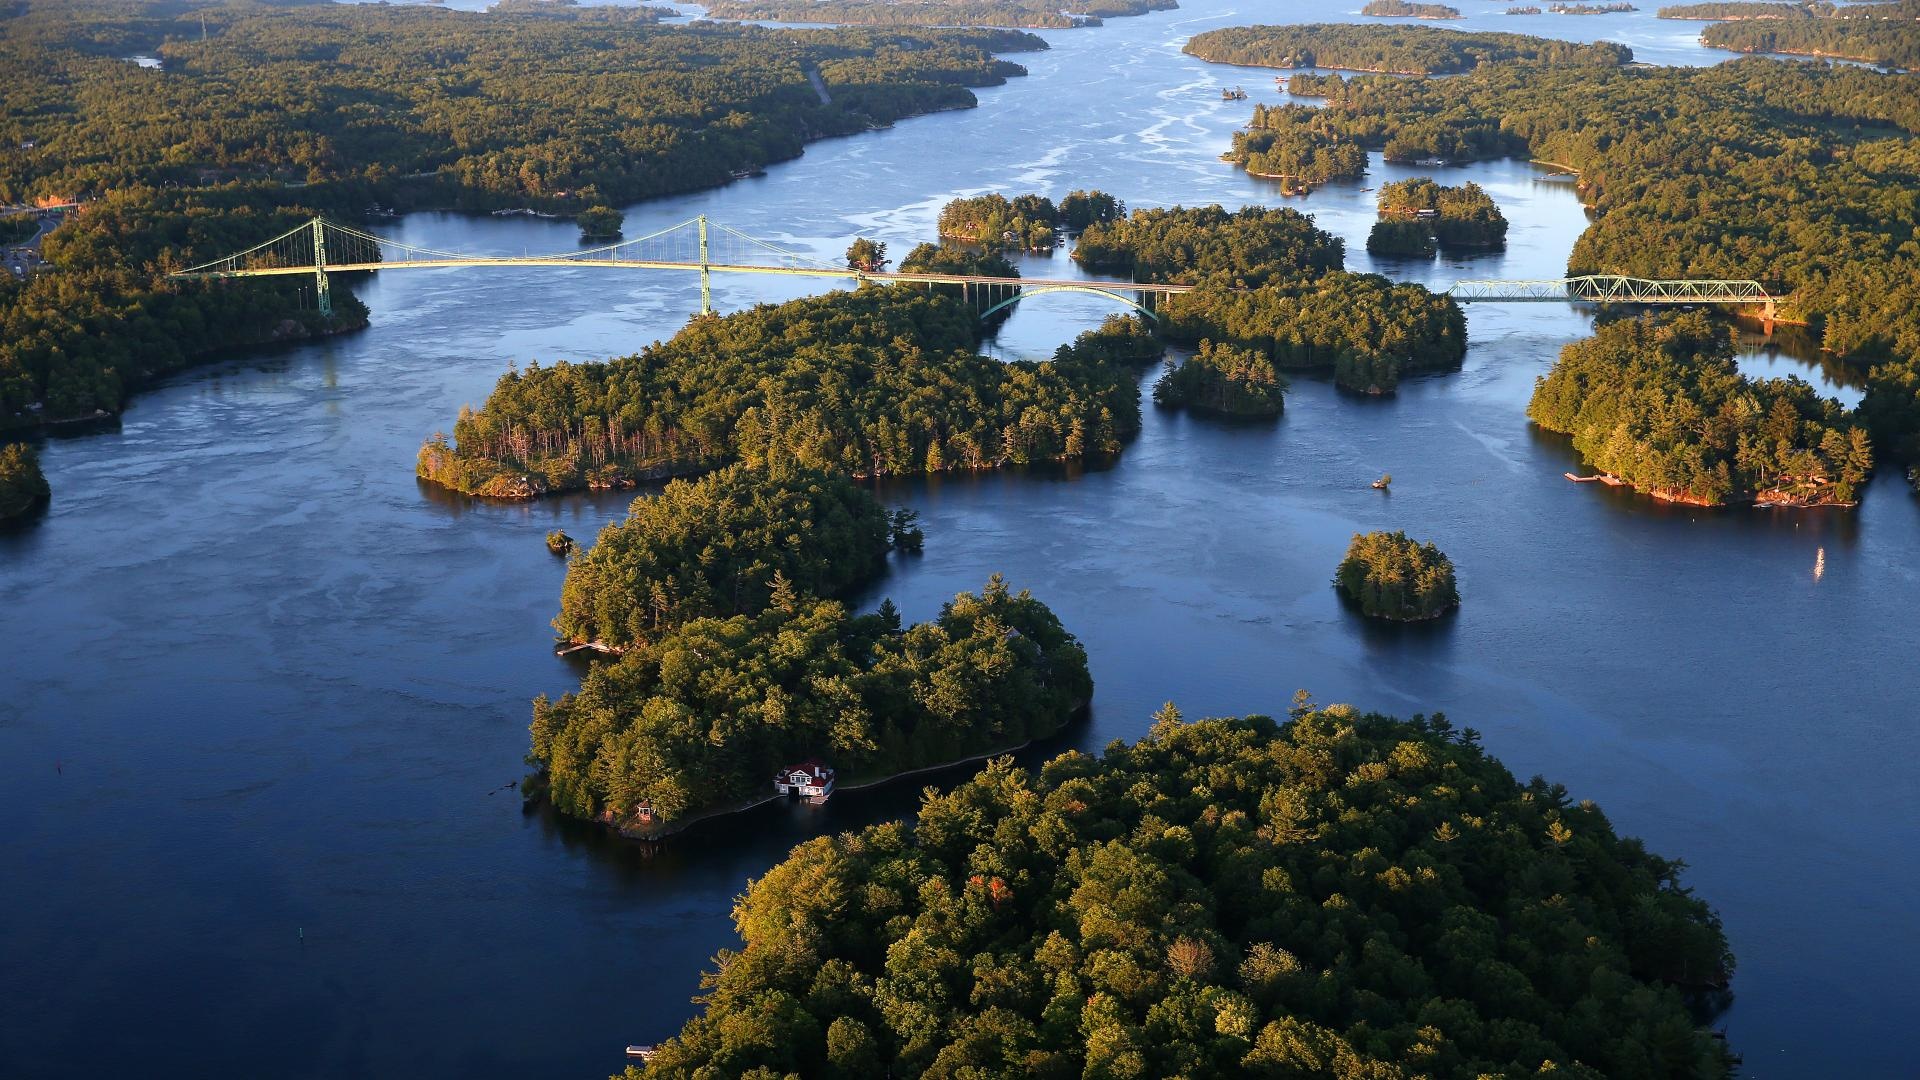
[[(1469, 0), (1486, 4), (1488, 0)], [(1135, 206), (1279, 202), (1217, 161), (1267, 75), (1179, 52), (1192, 33), (1327, 17), (1192, 0), (1046, 35), (981, 108), (812, 146), (764, 179), (630, 208), (628, 234), (708, 213), (824, 258), (895, 254), (956, 194), (1071, 186)], [(1336, 15), (1350, 17), (1350, 15)], [(1642, 60), (1720, 60), (1651, 13), (1478, 15), (1615, 37)], [(1371, 188), (1294, 200), (1367, 267)], [(1448, 169), (1513, 221), (1505, 256), (1379, 267), (1559, 277), (1584, 215), (1519, 161)], [(574, 229), (422, 213), (436, 248), (551, 252)], [(1073, 273), (1066, 258), (1027, 273)], [(737, 307), (791, 296), (718, 279)], [(843, 796), (697, 834), (657, 859), (524, 813), (528, 700), (553, 655), (563, 563), (628, 496), (524, 505), (420, 486), (413, 455), (509, 363), (589, 359), (672, 334), (684, 277), (409, 271), (361, 286), (372, 327), (236, 357), (142, 394), (111, 432), (44, 446), (56, 496), (0, 538), (0, 1074), (568, 1076), (693, 1013), (730, 901), (822, 830), (908, 813)], [(995, 346), (1039, 356), (1096, 325), (1037, 298)], [(889, 484), (925, 555), (862, 598), (908, 617), (1000, 571), (1087, 644), (1091, 721), (1056, 748), (1188, 715), (1321, 701), (1446, 711), (1521, 776), (1544, 773), (1692, 867), (1740, 957), (1722, 1017), (1755, 1076), (1910, 1076), (1920, 922), (1920, 507), (1882, 475), (1859, 511), (1672, 509), (1569, 484), (1576, 457), (1524, 419), (1590, 315), (1480, 306), (1459, 373), (1363, 400), (1298, 379), (1275, 425), (1148, 407), (1110, 469)], [(1751, 350), (1757, 373), (1845, 373)], [(1150, 382), (1150, 377), (1142, 386)], [(1382, 471), (1392, 494), (1367, 488)], [(1457, 563), (1465, 607), (1380, 630), (1329, 577), (1356, 530), (1405, 528)]]

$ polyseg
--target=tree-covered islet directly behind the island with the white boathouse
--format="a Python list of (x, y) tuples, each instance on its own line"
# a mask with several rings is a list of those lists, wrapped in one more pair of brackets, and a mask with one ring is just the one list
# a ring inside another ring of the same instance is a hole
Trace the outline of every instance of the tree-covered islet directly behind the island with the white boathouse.
[(881, 575), (897, 534), (918, 540), (910, 517), (839, 473), (732, 465), (674, 480), (568, 561), (553, 628), (626, 650), (693, 619), (764, 611), (776, 575), (839, 598)]

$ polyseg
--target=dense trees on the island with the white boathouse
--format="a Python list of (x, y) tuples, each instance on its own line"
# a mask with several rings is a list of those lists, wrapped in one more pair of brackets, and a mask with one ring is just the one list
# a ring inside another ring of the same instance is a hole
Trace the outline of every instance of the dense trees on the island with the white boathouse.
[(595, 665), (578, 694), (536, 700), (530, 786), (647, 834), (764, 799), (808, 757), (847, 784), (1008, 749), (1091, 696), (1079, 642), (998, 577), (914, 626), (891, 603), (851, 615), (778, 580), (755, 615), (693, 619)]

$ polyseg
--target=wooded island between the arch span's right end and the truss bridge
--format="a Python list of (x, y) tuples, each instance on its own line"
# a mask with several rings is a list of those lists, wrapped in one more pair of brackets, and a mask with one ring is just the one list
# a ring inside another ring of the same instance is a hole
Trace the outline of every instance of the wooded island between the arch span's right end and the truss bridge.
[(1296, 209), (1217, 206), (1135, 211), (1081, 234), (1085, 267), (1198, 284), (1160, 302), (1162, 332), (1263, 354), (1275, 369), (1332, 369), (1350, 390), (1392, 392), (1400, 377), (1467, 354), (1467, 317), (1419, 284), (1340, 269), (1346, 246)]

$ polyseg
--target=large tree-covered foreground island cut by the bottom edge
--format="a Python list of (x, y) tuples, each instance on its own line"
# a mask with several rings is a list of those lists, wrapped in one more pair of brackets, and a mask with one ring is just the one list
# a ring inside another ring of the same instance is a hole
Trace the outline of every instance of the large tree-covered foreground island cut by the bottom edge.
[(1728, 1078), (1680, 869), (1438, 715), (1169, 705), (795, 847), (628, 1076)]

